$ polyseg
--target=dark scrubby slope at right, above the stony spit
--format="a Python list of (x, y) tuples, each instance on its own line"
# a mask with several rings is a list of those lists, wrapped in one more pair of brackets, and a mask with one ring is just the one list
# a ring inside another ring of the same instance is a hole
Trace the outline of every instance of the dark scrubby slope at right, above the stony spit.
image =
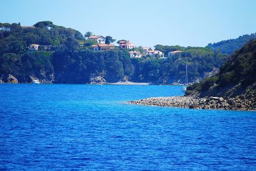
[(220, 73), (188, 87), (187, 95), (255, 96), (256, 40), (246, 43), (221, 66)]

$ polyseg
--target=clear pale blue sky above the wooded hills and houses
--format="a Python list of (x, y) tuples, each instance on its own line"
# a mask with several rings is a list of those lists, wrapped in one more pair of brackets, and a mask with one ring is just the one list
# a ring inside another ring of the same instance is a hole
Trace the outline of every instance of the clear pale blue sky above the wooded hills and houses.
[(205, 46), (256, 32), (254, 0), (8, 0), (0, 22), (23, 26), (51, 20), (135, 45)]

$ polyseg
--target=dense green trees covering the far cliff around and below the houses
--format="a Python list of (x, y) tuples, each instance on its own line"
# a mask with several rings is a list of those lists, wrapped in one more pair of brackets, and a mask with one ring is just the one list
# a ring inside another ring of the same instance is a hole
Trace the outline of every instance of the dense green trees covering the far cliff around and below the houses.
[[(114, 41), (107, 37), (109, 42)], [(40, 45), (38, 51), (29, 51), (33, 43)], [(90, 48), (93, 44), (79, 31), (56, 26), (51, 21), (31, 27), (0, 23), (0, 80), (13, 75), (19, 82), (31, 82), (32, 76), (46, 82), (84, 84), (90, 82), (90, 77), (100, 75), (107, 82), (117, 82), (126, 76), (134, 82), (171, 84), (184, 82), (188, 64), (189, 82), (194, 82), (220, 68), (227, 57), (209, 47), (156, 45), (156, 50), (165, 56), (173, 50), (183, 52), (166, 59), (132, 59), (129, 51), (122, 48), (94, 52)]]

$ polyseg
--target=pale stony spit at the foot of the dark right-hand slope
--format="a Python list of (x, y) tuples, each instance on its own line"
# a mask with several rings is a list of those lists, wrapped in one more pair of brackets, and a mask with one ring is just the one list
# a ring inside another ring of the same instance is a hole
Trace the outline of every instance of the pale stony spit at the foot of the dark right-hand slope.
[(150, 105), (159, 107), (181, 107), (201, 109), (222, 109), (222, 110), (256, 110), (256, 98), (252, 95), (249, 98), (237, 96), (235, 98), (193, 98), (191, 96), (173, 96), (146, 98), (143, 100), (128, 101), (135, 105)]

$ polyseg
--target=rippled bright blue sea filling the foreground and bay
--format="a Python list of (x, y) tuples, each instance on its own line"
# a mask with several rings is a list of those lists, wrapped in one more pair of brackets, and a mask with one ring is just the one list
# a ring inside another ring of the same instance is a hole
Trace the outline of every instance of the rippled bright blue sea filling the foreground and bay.
[(0, 170), (256, 170), (256, 112), (124, 103), (180, 88), (0, 84)]

